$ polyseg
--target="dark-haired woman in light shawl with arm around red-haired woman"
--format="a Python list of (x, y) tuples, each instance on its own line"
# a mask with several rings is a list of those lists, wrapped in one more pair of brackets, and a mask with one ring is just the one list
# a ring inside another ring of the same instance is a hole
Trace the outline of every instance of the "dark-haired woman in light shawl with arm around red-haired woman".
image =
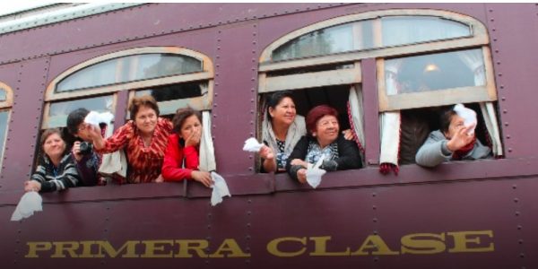
[[(262, 171), (284, 172), (288, 157), (305, 134), (305, 118), (297, 114), (291, 92), (276, 91), (269, 95), (262, 123), (262, 141), (265, 146), (259, 152)], [(343, 134), (347, 140), (353, 139), (351, 130), (345, 130)]]

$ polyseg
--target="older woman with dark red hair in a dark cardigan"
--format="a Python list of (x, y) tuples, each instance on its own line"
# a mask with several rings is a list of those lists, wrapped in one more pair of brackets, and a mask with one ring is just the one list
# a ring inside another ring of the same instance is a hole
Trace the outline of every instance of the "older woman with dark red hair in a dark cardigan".
[(359, 169), (362, 166), (357, 144), (340, 134), (338, 112), (329, 106), (312, 108), (307, 115), (308, 135), (291, 152), (286, 170), (300, 183), (307, 180), (308, 164), (325, 157), (321, 169), (327, 171)]

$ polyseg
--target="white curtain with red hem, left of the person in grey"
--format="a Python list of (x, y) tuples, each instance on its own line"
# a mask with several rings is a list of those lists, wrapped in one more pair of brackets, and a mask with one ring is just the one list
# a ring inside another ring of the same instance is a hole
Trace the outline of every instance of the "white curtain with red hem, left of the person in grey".
[[(398, 82), (396, 77), (402, 60), (391, 60), (385, 62), (385, 85), (386, 94), (394, 95), (398, 93)], [(381, 172), (387, 173), (389, 170), (386, 164), (391, 165), (395, 172), (398, 166), (398, 151), (400, 148), (400, 111), (383, 112), (379, 116), (381, 134), (381, 152), (379, 163)]]

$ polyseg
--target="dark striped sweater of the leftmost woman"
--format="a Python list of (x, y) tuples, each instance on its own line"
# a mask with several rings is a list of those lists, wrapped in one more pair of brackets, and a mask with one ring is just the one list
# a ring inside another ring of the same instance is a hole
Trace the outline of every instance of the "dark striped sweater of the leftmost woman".
[(68, 187), (76, 187), (80, 182), (76, 165), (70, 154), (62, 158), (58, 167), (55, 167), (48, 156), (44, 155), (30, 179), (41, 183), (39, 192), (64, 190)]

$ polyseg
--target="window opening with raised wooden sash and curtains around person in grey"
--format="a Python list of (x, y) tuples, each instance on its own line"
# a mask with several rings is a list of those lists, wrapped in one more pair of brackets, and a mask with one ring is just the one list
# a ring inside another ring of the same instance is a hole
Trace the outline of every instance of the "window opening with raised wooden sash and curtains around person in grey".
[(440, 108), (456, 103), (473, 103), (479, 141), (494, 156), (503, 155), (488, 47), (379, 58), (377, 71), (382, 167), (414, 163), (428, 134), (438, 129)]

